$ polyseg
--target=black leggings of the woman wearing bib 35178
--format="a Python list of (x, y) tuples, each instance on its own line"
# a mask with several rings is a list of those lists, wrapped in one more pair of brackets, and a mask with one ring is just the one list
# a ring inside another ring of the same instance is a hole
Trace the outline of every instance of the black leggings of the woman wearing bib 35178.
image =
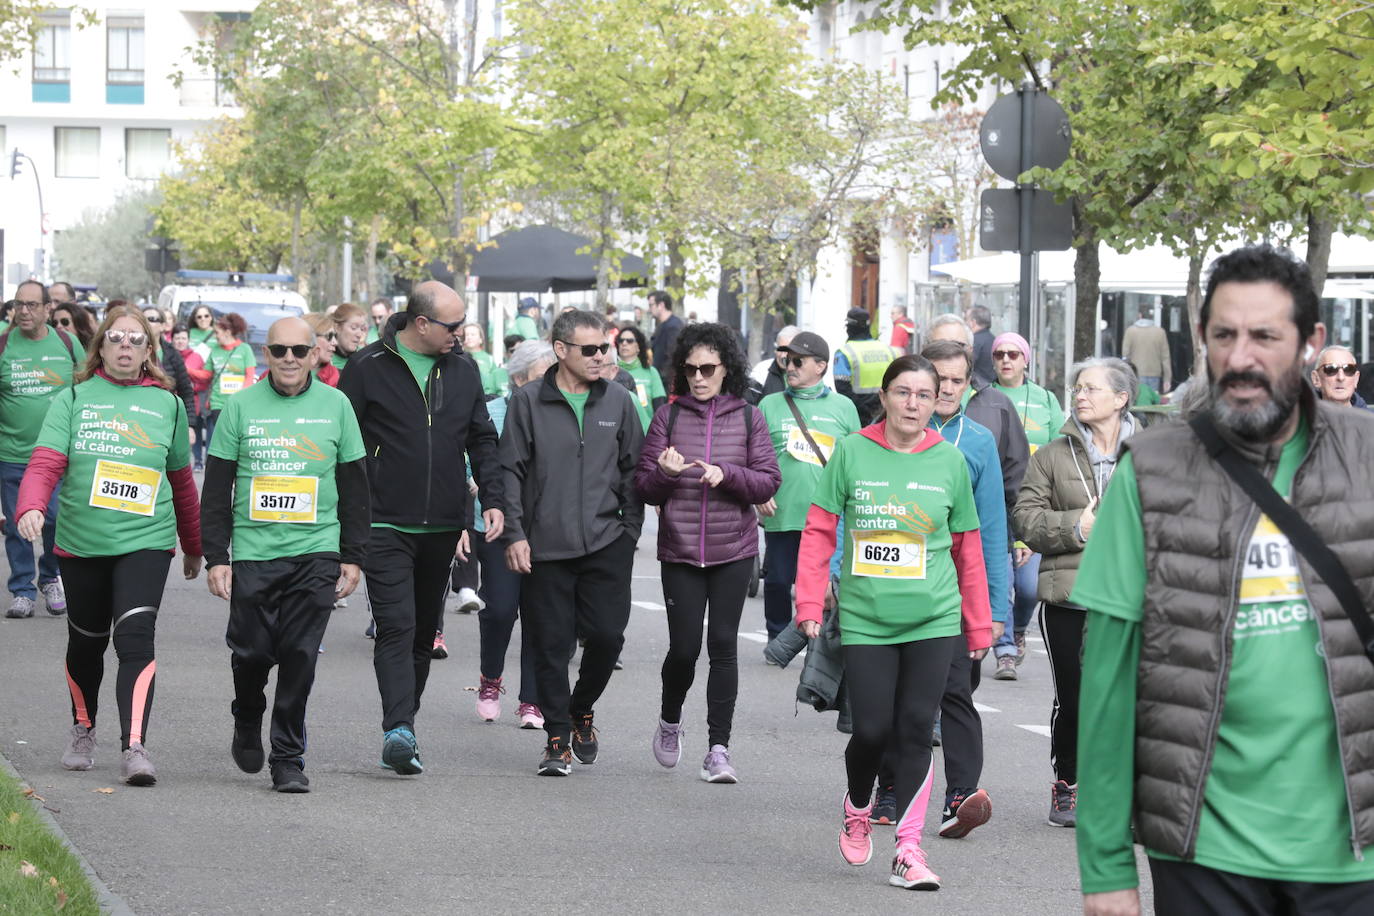
[(114, 698), (120, 705), (120, 747), (143, 743), (153, 711), (157, 662), (153, 637), (172, 553), (135, 551), (121, 556), (62, 556), (67, 592), (67, 687), (71, 720), (95, 728), (104, 650), (114, 636), (120, 659)]

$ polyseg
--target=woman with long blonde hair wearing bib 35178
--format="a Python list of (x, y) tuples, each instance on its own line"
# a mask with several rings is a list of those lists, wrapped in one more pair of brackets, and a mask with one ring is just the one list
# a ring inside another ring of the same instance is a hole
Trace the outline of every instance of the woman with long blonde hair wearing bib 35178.
[(71, 732), (62, 765), (95, 765), (95, 722), (104, 650), (120, 659), (121, 777), (153, 786), (144, 740), (157, 673), (154, 630), (177, 536), (181, 569), (201, 571), (201, 512), (191, 475), (185, 404), (157, 363), (140, 309), (106, 313), (76, 385), (59, 394), (23, 482), (19, 533), (41, 537), (58, 482), (56, 552), (67, 588), (66, 676)]

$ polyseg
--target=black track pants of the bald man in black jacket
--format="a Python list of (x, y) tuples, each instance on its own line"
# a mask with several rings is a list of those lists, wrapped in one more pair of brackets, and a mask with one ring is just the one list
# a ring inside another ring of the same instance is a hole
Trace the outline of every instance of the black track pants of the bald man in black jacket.
[(448, 597), (458, 531), (409, 534), (372, 527), (367, 542), (367, 602), (376, 621), (372, 667), (382, 694), (382, 729), (415, 726)]

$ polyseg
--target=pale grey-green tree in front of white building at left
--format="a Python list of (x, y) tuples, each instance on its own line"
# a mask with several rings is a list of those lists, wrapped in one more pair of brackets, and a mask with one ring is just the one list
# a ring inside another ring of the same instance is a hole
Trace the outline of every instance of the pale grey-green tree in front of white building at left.
[(155, 190), (129, 191), (103, 210), (91, 209), (81, 222), (54, 240), (54, 275), (73, 283), (93, 283), (106, 299), (153, 299), (159, 276), (143, 269), (147, 225), (158, 203)]

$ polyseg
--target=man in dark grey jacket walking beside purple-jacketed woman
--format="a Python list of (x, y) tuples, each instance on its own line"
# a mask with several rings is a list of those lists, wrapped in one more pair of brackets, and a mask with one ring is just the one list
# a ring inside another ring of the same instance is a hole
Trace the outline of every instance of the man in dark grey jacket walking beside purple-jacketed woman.
[[(635, 400), (600, 378), (614, 358), (602, 319), (572, 310), (551, 331), (558, 365), (511, 394), (502, 430), (506, 564), (529, 578), (529, 628), (548, 743), (537, 772), (567, 776), (594, 764), (592, 706), (610, 681), (629, 622), (629, 581), (644, 505), (635, 464), (644, 442)], [(486, 504), (485, 500), (482, 503)], [(577, 685), (567, 661), (585, 639)]]

